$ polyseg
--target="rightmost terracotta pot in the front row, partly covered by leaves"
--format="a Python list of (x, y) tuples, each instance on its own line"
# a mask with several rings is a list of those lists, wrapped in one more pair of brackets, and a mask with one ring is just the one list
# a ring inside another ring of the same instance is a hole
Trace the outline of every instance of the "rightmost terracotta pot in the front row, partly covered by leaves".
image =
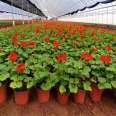
[(92, 85), (92, 91), (90, 92), (90, 97), (93, 102), (100, 102), (102, 98), (103, 90), (99, 89), (96, 84)]

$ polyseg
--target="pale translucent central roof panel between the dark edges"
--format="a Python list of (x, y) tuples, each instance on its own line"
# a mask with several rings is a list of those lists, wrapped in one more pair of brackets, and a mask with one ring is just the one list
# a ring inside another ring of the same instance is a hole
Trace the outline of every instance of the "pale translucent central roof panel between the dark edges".
[(115, 0), (30, 0), (49, 18), (91, 8)]

